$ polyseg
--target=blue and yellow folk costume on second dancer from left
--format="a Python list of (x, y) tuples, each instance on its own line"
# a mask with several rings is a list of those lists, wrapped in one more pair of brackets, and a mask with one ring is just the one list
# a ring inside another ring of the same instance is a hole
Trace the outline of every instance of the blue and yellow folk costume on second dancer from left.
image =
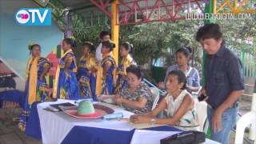
[[(65, 72), (66, 62), (72, 59), (72, 63)], [(54, 98), (78, 99), (80, 98), (78, 81), (75, 73), (77, 72), (76, 61), (73, 51), (67, 50), (59, 60), (59, 66), (55, 75)]]

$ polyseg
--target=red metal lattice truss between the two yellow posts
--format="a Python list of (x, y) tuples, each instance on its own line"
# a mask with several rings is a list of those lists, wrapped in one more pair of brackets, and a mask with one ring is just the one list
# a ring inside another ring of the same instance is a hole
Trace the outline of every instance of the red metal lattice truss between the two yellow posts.
[(118, 4), (118, 25), (136, 25), (148, 22), (170, 22), (186, 18), (186, 12), (200, 10), (203, 0), (134, 0)]

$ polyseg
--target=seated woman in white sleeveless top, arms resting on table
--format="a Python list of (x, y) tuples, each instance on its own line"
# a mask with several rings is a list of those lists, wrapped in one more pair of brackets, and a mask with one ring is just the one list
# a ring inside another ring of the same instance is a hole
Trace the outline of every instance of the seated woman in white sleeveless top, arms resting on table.
[[(181, 70), (173, 70), (167, 75), (166, 90), (166, 98), (163, 98), (153, 111), (143, 115), (132, 115), (130, 121), (174, 125), (181, 130), (199, 130), (194, 100), (186, 91), (186, 76)], [(155, 118), (165, 109), (167, 118)]]

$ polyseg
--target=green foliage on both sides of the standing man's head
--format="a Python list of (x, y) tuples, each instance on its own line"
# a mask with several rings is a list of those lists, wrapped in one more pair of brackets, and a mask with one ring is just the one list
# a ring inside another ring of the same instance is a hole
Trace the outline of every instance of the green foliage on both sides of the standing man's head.
[[(222, 28), (226, 46), (255, 55), (256, 14), (251, 14), (251, 16), (250, 20), (222, 20), (217, 23)], [(195, 62), (201, 63), (202, 46), (195, 41), (194, 35), (202, 25), (202, 21), (182, 20), (170, 23), (121, 26), (121, 42), (129, 41), (134, 44), (134, 58), (139, 64), (151, 62), (152, 59), (162, 56), (168, 58), (170, 51), (174, 52), (182, 46), (194, 47)], [(246, 43), (249, 38), (253, 40), (253, 44)]]

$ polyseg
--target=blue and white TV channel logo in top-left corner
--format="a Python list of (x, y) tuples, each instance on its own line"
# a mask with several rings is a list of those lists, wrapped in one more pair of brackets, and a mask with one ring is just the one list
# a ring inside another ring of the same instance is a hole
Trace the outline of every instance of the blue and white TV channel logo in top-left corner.
[(22, 8), (15, 14), (17, 22), (21, 26), (50, 26), (50, 8)]

